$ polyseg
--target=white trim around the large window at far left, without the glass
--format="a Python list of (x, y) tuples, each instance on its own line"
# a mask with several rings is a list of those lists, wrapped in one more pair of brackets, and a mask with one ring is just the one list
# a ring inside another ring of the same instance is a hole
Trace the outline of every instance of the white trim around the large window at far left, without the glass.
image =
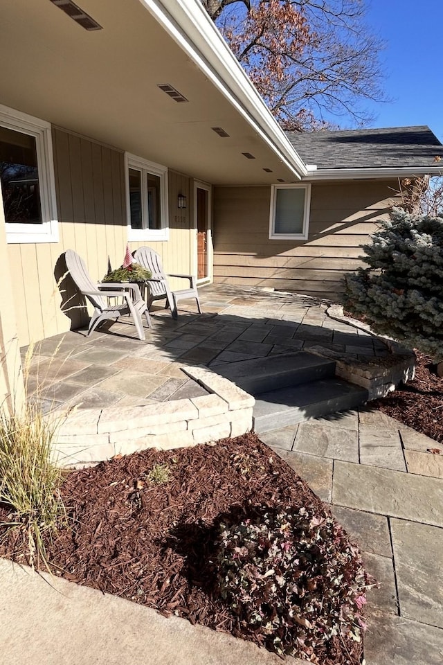
[(57, 201), (51, 125), (34, 116), (0, 104), (0, 125), (9, 130), (35, 137), (37, 168), (39, 172), (42, 224), (6, 222), (6, 240), (9, 243), (58, 242)]

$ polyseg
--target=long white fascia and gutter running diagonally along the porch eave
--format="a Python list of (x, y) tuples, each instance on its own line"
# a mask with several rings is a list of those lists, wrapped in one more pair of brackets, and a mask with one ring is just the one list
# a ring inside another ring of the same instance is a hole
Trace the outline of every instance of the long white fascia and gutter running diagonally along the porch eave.
[(199, 0), (139, 0), (297, 179), (305, 162), (284, 134)]

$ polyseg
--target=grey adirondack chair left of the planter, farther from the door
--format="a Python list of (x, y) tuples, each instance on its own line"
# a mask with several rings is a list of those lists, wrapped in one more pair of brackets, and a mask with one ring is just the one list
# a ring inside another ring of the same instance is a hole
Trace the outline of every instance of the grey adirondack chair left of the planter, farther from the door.
[[(73, 281), (78, 287), (80, 293), (87, 297), (94, 306), (94, 312), (89, 321), (88, 335), (102, 321), (114, 319), (117, 321), (125, 314), (132, 314), (138, 337), (145, 339), (145, 330), (143, 330), (142, 314), (145, 314), (147, 325), (152, 328), (151, 317), (147, 304), (141, 297), (138, 284), (121, 284), (114, 282), (105, 282), (95, 284), (89, 276), (84, 260), (72, 249), (65, 252), (66, 267), (68, 268)], [(107, 296), (107, 297), (105, 297)], [(123, 303), (108, 305), (107, 298), (123, 298)]]

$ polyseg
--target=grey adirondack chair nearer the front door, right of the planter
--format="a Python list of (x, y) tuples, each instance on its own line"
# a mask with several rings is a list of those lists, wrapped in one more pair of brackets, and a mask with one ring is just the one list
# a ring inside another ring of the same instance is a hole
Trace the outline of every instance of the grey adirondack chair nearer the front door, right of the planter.
[[(170, 308), (172, 317), (177, 319), (177, 303), (179, 300), (186, 298), (195, 298), (197, 301), (197, 309), (201, 314), (199, 292), (197, 291), (197, 278), (194, 275), (181, 275), (177, 273), (169, 273), (165, 275), (163, 266), (161, 265), (161, 258), (154, 249), (150, 247), (139, 247), (134, 254), (136, 263), (143, 265), (152, 272), (152, 278), (146, 281), (147, 283), (147, 305), (151, 306), (154, 300), (166, 299), (165, 308)], [(181, 277), (189, 280), (189, 288), (181, 289), (179, 291), (171, 291), (167, 277)]]

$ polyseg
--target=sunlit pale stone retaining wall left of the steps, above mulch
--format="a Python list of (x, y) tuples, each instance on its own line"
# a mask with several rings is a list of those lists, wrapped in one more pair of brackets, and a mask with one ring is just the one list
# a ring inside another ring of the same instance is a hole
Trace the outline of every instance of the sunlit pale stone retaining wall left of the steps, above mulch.
[(251, 395), (205, 366), (182, 369), (210, 394), (140, 407), (82, 409), (61, 416), (53, 443), (57, 463), (78, 468), (117, 454), (210, 443), (252, 429), (255, 399)]

